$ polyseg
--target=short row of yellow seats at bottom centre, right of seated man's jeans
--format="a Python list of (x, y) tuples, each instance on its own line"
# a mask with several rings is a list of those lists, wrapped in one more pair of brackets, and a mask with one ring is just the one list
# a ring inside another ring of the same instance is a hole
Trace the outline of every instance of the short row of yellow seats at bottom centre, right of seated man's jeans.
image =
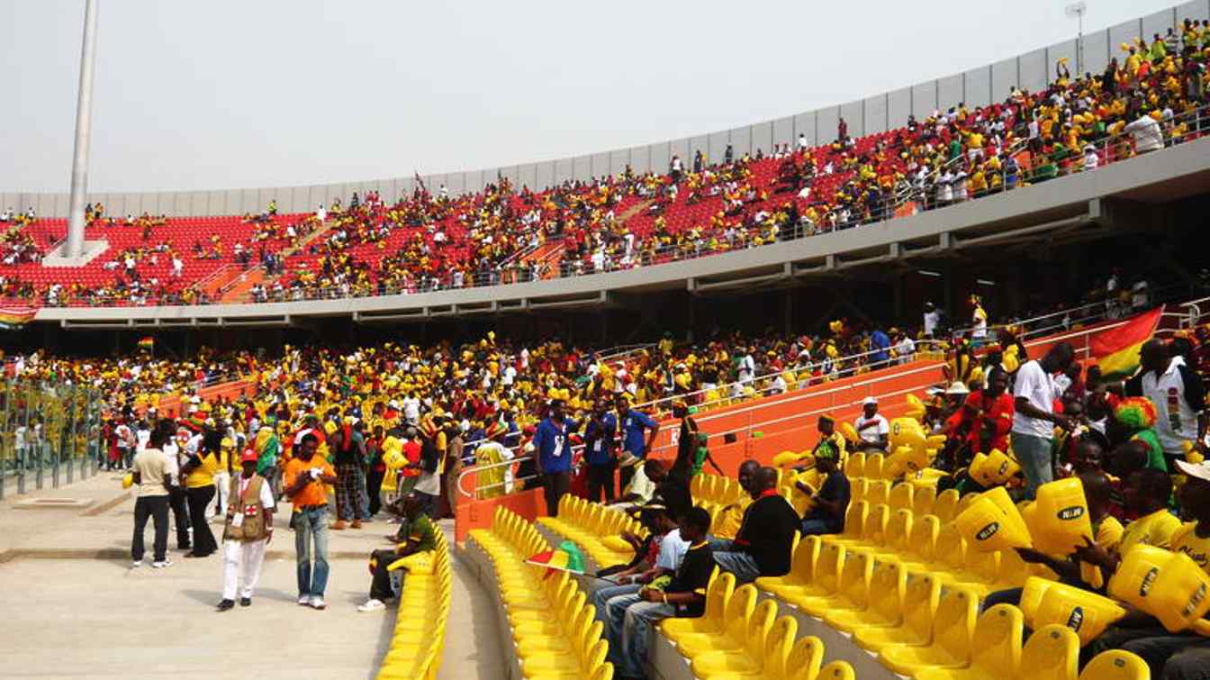
[(796, 640), (797, 621), (791, 616), (776, 618), (777, 603), (756, 604), (753, 586), (734, 584), (732, 574), (715, 572), (701, 617), (661, 623), (661, 632), (690, 659), (693, 675), (707, 680), (853, 680), (853, 667), (847, 662), (820, 668), (823, 642), (814, 636)]

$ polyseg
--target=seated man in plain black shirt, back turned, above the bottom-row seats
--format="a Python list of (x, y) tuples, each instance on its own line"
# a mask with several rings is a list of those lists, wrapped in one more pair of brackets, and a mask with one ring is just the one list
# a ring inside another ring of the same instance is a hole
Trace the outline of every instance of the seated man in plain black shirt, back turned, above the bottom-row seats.
[(751, 583), (761, 576), (790, 572), (794, 532), (799, 513), (777, 494), (777, 471), (762, 467), (753, 477), (755, 500), (744, 511), (743, 523), (730, 544), (715, 546), (714, 561), (736, 575), (737, 583)]

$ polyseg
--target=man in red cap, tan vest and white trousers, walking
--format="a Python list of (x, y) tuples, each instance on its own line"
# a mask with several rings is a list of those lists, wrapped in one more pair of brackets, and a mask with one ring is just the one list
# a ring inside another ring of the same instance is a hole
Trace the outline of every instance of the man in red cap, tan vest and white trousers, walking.
[(255, 449), (244, 449), (240, 455), (240, 476), (230, 483), (232, 501), (226, 508), (223, 529), (223, 600), (219, 601), (219, 611), (235, 606), (237, 586), (242, 586), (238, 588), (240, 605), (252, 605), (252, 594), (265, 561), (265, 548), (273, 538), (273, 492), (269, 482), (257, 474), (259, 459)]

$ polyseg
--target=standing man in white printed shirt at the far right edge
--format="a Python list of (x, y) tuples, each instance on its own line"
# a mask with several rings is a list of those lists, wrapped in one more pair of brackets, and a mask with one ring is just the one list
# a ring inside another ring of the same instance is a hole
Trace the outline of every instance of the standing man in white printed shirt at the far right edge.
[(1156, 405), (1156, 434), (1171, 471), (1175, 461), (1185, 460), (1185, 446), (1205, 437), (1205, 387), (1183, 357), (1171, 356), (1163, 340), (1145, 342), (1139, 362), (1140, 370), (1127, 381), (1125, 392), (1147, 397)]

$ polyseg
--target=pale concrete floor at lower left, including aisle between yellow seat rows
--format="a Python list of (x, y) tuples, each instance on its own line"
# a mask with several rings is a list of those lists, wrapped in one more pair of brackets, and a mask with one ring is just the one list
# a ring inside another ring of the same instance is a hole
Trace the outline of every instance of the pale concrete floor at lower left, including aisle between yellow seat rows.
[[(60, 489), (0, 502), (0, 676), (2, 678), (373, 678), (391, 641), (396, 609), (361, 613), (367, 555), (390, 525), (334, 531), (332, 575), (316, 611), (295, 604), (294, 535), (287, 505), (276, 519), (250, 607), (217, 612), (215, 553), (132, 570), (134, 501), (121, 476), (100, 473)], [(87, 509), (18, 509), (30, 499), (73, 499)], [(212, 525), (220, 530), (217, 525)], [(453, 524), (443, 523), (448, 534)], [(151, 529), (146, 542), (150, 558)], [(459, 559), (439, 678), (503, 678), (490, 599)]]

